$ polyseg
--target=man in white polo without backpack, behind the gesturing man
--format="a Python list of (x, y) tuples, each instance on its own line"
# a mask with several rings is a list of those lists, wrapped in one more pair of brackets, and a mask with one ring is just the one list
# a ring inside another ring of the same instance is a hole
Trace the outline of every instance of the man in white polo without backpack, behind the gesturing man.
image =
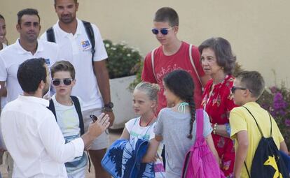
[[(51, 66), (58, 57), (59, 49), (57, 44), (37, 40), (40, 26), (40, 17), (35, 9), (24, 9), (18, 12), (18, 24), (16, 29), (20, 38), (12, 45), (0, 51), (0, 96), (3, 96), (6, 82), (7, 102), (15, 100), (22, 89), (18, 83), (16, 73), (18, 66), (27, 59), (43, 57), (46, 64)], [(12, 162), (8, 158), (8, 162)], [(9, 175), (13, 170), (13, 164), (9, 166)]]

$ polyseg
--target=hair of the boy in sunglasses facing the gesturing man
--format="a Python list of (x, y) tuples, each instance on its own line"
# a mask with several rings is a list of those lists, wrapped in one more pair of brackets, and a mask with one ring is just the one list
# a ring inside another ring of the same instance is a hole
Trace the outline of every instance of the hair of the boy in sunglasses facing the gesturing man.
[(71, 74), (71, 78), (74, 80), (76, 77), (76, 71), (74, 70), (74, 66), (69, 61), (57, 61), (50, 68), (51, 77), (55, 75), (55, 73), (60, 71), (67, 71)]

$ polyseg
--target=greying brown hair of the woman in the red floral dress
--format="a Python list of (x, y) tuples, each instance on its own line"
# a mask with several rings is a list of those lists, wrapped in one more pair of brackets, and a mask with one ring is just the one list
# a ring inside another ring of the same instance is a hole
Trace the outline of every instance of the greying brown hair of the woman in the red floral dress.
[(230, 47), (228, 40), (221, 37), (209, 38), (202, 42), (198, 47), (200, 54), (202, 54), (202, 50), (205, 48), (214, 50), (217, 64), (223, 67), (223, 71), (226, 74), (233, 74), (233, 71), (235, 70), (235, 61), (237, 59), (232, 52), (232, 47)]

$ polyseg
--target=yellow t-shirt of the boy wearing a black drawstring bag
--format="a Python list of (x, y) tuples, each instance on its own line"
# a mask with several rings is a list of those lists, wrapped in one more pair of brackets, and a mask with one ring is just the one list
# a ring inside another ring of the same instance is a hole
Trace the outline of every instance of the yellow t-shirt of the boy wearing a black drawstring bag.
[[(255, 102), (246, 103), (244, 106), (247, 107), (255, 117), (264, 137), (268, 138), (270, 136), (270, 117), (268, 112)], [(230, 138), (235, 140), (235, 149), (237, 149), (236, 133), (240, 131), (247, 131), (248, 133), (249, 148), (246, 157), (246, 164), (249, 172), (251, 171), (251, 161), (254, 158), (258, 142), (261, 140), (261, 133), (258, 131), (256, 122), (251, 114), (249, 114), (244, 107), (235, 107), (230, 112)], [(274, 119), (272, 119), (272, 138), (279, 149), (280, 142), (283, 142), (284, 138)], [(248, 177), (247, 170), (244, 166), (242, 168), (241, 177)]]

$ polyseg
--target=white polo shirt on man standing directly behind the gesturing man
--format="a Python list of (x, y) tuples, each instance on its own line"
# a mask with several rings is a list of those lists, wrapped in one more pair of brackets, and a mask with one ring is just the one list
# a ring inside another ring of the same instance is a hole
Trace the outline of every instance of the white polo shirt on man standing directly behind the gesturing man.
[(6, 81), (7, 102), (15, 100), (22, 89), (17, 79), (18, 67), (27, 59), (42, 57), (46, 59), (48, 67), (52, 66), (59, 57), (59, 47), (55, 43), (37, 41), (37, 50), (34, 54), (23, 49), (19, 39), (0, 51), (0, 81)]

